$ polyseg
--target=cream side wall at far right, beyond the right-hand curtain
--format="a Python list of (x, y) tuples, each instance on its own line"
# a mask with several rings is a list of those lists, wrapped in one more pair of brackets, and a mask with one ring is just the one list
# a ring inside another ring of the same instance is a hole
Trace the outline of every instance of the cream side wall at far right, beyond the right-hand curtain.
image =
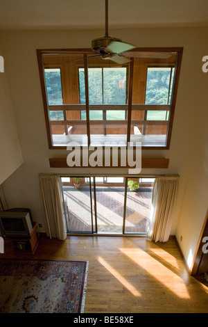
[[(192, 129), (193, 137), (189, 141), (187, 184), (176, 232), (177, 240), (180, 243), (189, 269), (192, 266), (196, 244), (208, 208), (208, 73), (203, 73), (201, 76), (201, 74), (193, 70), (193, 74), (196, 77), (195, 81), (192, 82), (194, 84), (193, 89), (195, 89), (198, 99), (197, 97), (194, 99), (193, 96), (191, 96), (191, 99), (198, 113), (198, 120), (195, 120), (195, 126)], [(198, 81), (203, 83), (198, 85)], [(180, 241), (181, 236), (182, 241)]]

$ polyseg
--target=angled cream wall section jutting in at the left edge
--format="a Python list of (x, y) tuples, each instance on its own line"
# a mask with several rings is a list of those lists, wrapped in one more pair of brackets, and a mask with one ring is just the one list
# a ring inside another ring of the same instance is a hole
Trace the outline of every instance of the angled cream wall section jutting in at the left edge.
[[(1, 49), (0, 55), (3, 56)], [(19, 136), (4, 71), (0, 72), (0, 184), (19, 168), (22, 162)]]

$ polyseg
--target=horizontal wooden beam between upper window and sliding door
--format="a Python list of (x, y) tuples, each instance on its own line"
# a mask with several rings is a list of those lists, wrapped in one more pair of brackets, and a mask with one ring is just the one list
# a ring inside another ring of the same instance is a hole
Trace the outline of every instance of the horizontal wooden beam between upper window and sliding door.
[[(49, 158), (49, 164), (51, 168), (69, 168), (67, 165), (67, 158)], [(169, 159), (166, 158), (143, 158), (141, 159), (141, 168), (168, 168)], [(78, 168), (78, 167), (76, 167)], [(80, 167), (83, 168), (83, 167)], [(85, 168), (101, 168), (85, 166)], [(110, 166), (106, 167), (103, 165), (103, 168), (132, 168), (130, 166)]]

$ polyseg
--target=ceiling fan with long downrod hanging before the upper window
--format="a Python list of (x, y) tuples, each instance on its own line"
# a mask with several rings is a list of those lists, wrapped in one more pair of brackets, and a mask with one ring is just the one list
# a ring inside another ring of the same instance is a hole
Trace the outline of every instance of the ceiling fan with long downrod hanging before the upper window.
[(92, 40), (92, 51), (103, 59), (110, 59), (121, 65), (129, 63), (130, 57), (169, 58), (172, 55), (170, 52), (129, 51), (135, 48), (135, 45), (130, 45), (122, 42), (119, 38), (112, 38), (108, 35), (108, 0), (105, 0), (105, 36)]

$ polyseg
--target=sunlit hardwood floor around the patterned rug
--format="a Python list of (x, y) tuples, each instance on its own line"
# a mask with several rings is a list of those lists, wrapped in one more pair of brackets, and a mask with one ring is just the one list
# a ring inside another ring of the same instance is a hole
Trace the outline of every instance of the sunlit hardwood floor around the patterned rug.
[(35, 255), (6, 247), (1, 258), (88, 260), (85, 313), (208, 312), (208, 288), (189, 276), (175, 239), (40, 238)]

